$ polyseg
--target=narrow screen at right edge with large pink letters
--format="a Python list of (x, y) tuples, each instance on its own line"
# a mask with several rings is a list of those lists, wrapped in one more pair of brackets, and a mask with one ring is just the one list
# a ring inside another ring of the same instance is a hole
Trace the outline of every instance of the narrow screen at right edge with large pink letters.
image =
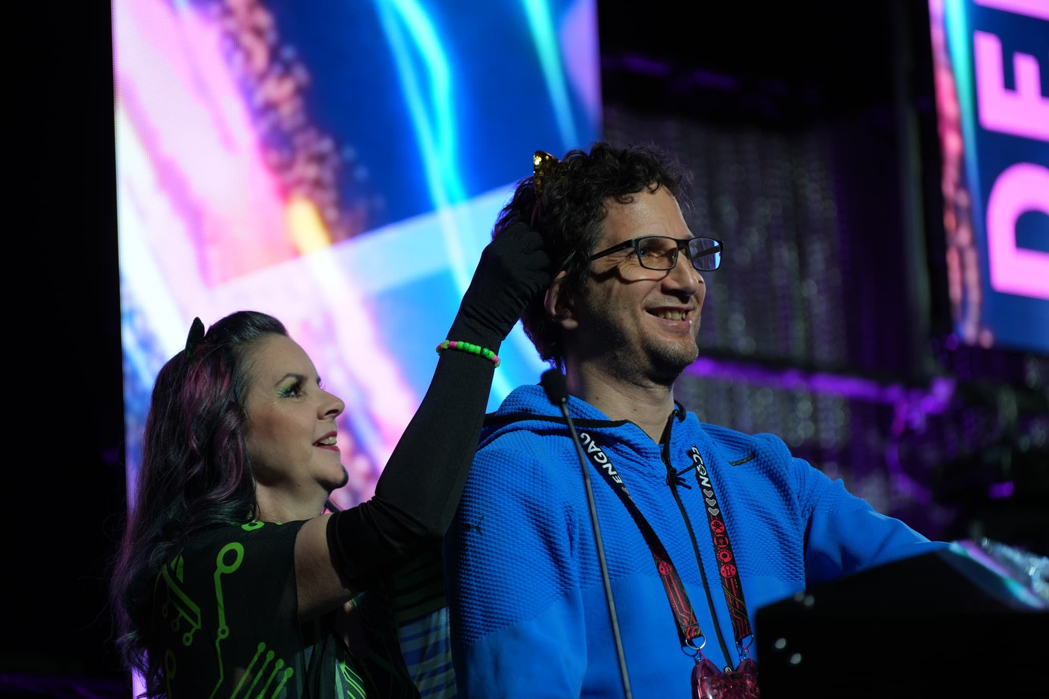
[(1049, 2), (929, 9), (956, 333), (1049, 354)]

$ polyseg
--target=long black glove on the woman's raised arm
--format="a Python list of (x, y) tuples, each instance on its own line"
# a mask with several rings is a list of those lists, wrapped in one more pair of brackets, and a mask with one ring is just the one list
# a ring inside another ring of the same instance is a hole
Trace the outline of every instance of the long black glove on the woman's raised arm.
[[(528, 302), (550, 283), (542, 238), (514, 223), (481, 254), (447, 340), (497, 352)], [(355, 587), (374, 585), (414, 547), (444, 537), (470, 472), (493, 374), (494, 365), (483, 356), (442, 353), (376, 496), (328, 521), (331, 555)]]

